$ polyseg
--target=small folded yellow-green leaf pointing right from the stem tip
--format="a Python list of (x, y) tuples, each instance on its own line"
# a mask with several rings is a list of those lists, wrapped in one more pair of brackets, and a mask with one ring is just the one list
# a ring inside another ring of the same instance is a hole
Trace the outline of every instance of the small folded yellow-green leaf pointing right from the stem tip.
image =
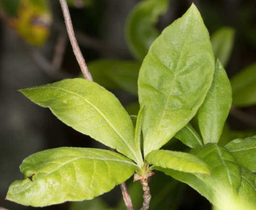
[(145, 159), (148, 163), (165, 169), (186, 173), (210, 173), (208, 166), (201, 159), (184, 152), (155, 150), (150, 152)]

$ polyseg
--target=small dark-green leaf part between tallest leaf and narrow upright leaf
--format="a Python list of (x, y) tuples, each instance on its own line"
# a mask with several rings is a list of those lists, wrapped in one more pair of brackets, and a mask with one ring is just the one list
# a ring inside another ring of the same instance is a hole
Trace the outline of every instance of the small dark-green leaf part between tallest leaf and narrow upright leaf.
[(190, 125), (190, 123), (185, 125), (181, 131), (176, 133), (175, 138), (178, 138), (183, 144), (189, 146), (190, 148), (198, 148), (203, 146), (202, 138), (192, 127), (192, 125)]

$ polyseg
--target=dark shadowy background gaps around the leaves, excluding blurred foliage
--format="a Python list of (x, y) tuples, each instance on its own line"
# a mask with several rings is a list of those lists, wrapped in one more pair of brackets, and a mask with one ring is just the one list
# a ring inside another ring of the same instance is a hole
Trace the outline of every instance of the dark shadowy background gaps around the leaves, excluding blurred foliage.
[[(124, 24), (127, 14), (135, 0), (97, 0), (95, 6), (83, 9), (71, 9), (76, 30), (79, 30), (81, 49), (89, 62), (97, 58), (133, 59), (124, 39)], [(192, 1), (170, 0), (167, 14), (161, 16), (158, 28), (162, 30), (179, 18), (188, 9)], [(202, 13), (209, 33), (221, 26), (230, 26), (236, 30), (236, 39), (230, 62), (226, 67), (229, 77), (245, 66), (256, 61), (256, 1), (255, 0), (203, 0), (194, 1)], [(54, 22), (51, 35), (45, 47), (39, 49), (48, 60), (53, 57), (54, 43), (64, 28), (62, 13), (58, 1), (51, 1)], [(85, 39), (92, 37), (92, 40)], [(76, 77), (79, 67), (68, 43), (64, 53), (61, 73), (49, 74), (35, 62), (28, 47), (22, 43), (12, 30), (0, 23), (0, 206), (10, 210), (36, 209), (5, 201), (8, 187), (14, 180), (22, 179), (19, 165), (30, 154), (47, 148), (60, 146), (98, 147), (99, 144), (88, 137), (64, 125), (49, 110), (32, 104), (18, 93), (18, 89), (43, 85), (57, 81), (63, 74)], [(255, 72), (256, 74), (256, 72)], [(116, 93), (122, 102), (133, 99), (126, 93)], [(128, 98), (128, 99), (127, 99)], [(255, 106), (245, 108), (245, 112), (256, 116)], [(234, 129), (255, 129), (235, 117), (229, 117)], [(161, 175), (160, 175), (161, 176)], [(119, 188), (104, 196), (111, 205), (121, 198)], [(184, 188), (179, 209), (211, 209), (209, 203), (191, 188)], [(153, 198), (154, 199), (154, 198)], [(41, 209), (68, 209), (68, 203), (44, 207)], [(158, 209), (161, 209), (159, 207)]]

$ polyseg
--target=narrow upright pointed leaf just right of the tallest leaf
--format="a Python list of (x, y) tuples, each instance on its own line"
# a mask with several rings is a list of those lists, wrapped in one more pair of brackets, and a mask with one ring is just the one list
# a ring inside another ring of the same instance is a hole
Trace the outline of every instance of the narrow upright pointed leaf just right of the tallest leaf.
[(232, 90), (228, 76), (217, 60), (213, 83), (198, 110), (198, 125), (203, 143), (217, 143), (232, 104)]

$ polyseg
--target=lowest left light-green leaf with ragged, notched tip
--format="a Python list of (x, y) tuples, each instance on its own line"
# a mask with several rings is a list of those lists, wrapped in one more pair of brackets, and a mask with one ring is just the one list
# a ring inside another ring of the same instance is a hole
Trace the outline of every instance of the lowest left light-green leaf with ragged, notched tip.
[(91, 200), (129, 179), (137, 166), (108, 150), (55, 148), (24, 159), (24, 180), (13, 182), (7, 200), (42, 207)]

